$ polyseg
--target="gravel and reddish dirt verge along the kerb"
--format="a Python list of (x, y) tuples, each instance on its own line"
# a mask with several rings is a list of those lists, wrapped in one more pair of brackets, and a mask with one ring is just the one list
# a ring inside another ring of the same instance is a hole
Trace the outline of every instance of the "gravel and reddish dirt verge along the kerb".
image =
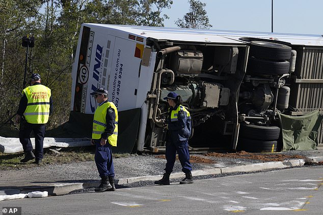
[[(244, 155), (240, 156), (240, 155)], [(223, 156), (224, 155), (224, 156)], [(289, 156), (287, 160), (293, 157), (319, 157), (323, 156), (322, 150), (309, 150), (309, 151), (283, 151), (278, 153), (221, 153), (221, 156), (217, 153), (211, 155), (203, 154), (191, 154), (192, 157), (198, 157), (192, 159), (193, 170), (216, 168), (216, 167), (228, 167), (237, 165), (248, 165), (253, 163), (267, 162), (262, 159), (268, 159), (268, 157), (277, 155), (276, 157)], [(255, 158), (257, 159), (252, 159)], [(260, 156), (260, 157), (259, 157)], [(44, 158), (45, 160), (46, 158)], [(203, 163), (203, 159), (208, 160)], [(259, 160), (260, 159), (260, 160)], [(209, 160), (213, 162), (209, 162)], [(202, 162), (196, 163), (194, 161)], [(150, 153), (143, 155), (127, 155), (125, 157), (119, 157), (114, 159), (116, 179), (146, 176), (146, 175), (162, 175), (166, 165), (166, 159), (160, 158), (158, 155), (152, 155)], [(176, 160), (173, 172), (181, 172), (181, 165)], [(272, 171), (272, 170), (271, 170)], [(233, 175), (233, 174), (230, 174)], [(226, 176), (226, 175), (221, 175)], [(183, 173), (184, 177), (184, 173)], [(207, 177), (219, 177), (217, 175), (211, 176), (197, 176), (194, 179), (202, 179)], [(0, 187), (9, 188), (10, 185), (26, 186), (27, 183), (39, 184), (39, 183), (58, 183), (58, 182), (87, 182), (93, 180), (99, 180), (96, 165), (94, 161), (87, 162), (73, 162), (68, 164), (42, 164), (32, 168), (18, 169), (18, 170), (2, 170), (0, 171)], [(181, 179), (171, 179), (171, 182), (177, 182)], [(117, 185), (117, 188), (122, 187), (138, 187), (153, 185), (153, 181), (139, 181), (127, 185)], [(119, 187), (122, 186), (122, 187)], [(83, 190), (82, 192), (93, 191), (92, 189)]]

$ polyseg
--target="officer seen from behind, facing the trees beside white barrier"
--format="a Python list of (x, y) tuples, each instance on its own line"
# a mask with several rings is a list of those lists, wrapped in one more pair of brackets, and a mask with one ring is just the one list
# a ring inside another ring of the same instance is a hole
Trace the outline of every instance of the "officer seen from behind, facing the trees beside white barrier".
[[(31, 76), (31, 86), (22, 90), (22, 98), (16, 115), (16, 123), (20, 122), (19, 140), (24, 151), (24, 158), (20, 162), (35, 159), (36, 164), (41, 164), (43, 159), (43, 141), (45, 128), (49, 115), (53, 112), (51, 91), (40, 84), (41, 78), (37, 73)], [(30, 140), (31, 132), (35, 136), (35, 155)]]

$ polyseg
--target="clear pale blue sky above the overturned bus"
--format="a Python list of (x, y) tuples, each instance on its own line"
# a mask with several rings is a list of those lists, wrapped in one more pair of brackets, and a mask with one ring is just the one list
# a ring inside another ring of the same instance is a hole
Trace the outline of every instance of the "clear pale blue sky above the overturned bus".
[[(323, 35), (323, 0), (200, 0), (212, 27), (219, 30)], [(189, 12), (187, 0), (173, 0), (171, 9), (164, 9), (170, 19), (165, 27)]]

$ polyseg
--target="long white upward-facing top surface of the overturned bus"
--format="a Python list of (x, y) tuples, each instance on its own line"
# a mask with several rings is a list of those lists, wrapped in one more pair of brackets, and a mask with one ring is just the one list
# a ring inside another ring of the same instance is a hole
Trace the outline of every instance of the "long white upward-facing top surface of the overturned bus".
[[(141, 36), (143, 38), (154, 38), (156, 40), (193, 41), (204, 43), (246, 43), (241, 37), (259, 38), (274, 41), (283, 41), (292, 45), (323, 46), (323, 35), (306, 34), (283, 34), (265, 32), (242, 32), (213, 29), (191, 29), (191, 28), (169, 28), (135, 25), (110, 25), (85, 23), (85, 25), (112, 28)], [(194, 37), (192, 37), (194, 35)]]

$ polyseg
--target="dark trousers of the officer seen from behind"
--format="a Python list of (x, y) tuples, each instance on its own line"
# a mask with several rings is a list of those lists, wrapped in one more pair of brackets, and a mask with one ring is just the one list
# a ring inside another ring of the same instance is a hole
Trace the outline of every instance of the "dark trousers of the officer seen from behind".
[(24, 152), (33, 150), (33, 145), (30, 140), (30, 134), (32, 133), (32, 131), (34, 132), (36, 160), (43, 159), (45, 129), (45, 124), (31, 124), (26, 121), (20, 122), (19, 140), (22, 144)]

